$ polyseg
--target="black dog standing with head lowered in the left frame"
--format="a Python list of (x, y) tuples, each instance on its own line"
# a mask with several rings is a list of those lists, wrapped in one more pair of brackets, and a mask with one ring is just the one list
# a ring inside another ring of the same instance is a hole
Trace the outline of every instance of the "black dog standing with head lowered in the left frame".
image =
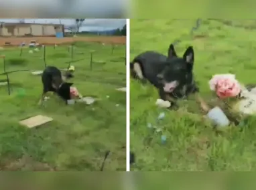
[(66, 103), (71, 99), (70, 86), (72, 86), (73, 83), (64, 82), (62, 79), (62, 73), (58, 68), (52, 66), (46, 67), (42, 73), (42, 83), (43, 93), (39, 104), (42, 103), (42, 100), (48, 91), (58, 94), (64, 101), (66, 101)]

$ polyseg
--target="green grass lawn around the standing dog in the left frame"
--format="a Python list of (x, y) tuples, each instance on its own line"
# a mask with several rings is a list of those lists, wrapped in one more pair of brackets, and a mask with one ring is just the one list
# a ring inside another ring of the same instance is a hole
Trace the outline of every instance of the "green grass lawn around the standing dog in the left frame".
[[(90, 51), (94, 50), (94, 63), (90, 70)], [(19, 48), (3, 49), (6, 71), (17, 69), (44, 69), (43, 49), (29, 54)], [(46, 47), (46, 63), (60, 69), (71, 60), (68, 46)], [(30, 71), (11, 73), (11, 95), (7, 86), (0, 86), (0, 169), (99, 171), (106, 151), (111, 151), (105, 163), (107, 171), (125, 171), (126, 95), (116, 91), (125, 87), (125, 45), (119, 45), (111, 55), (111, 45), (80, 43), (74, 46), (74, 86), (84, 96), (98, 97), (92, 105), (76, 103), (64, 105), (51, 96), (38, 106), (42, 94), (40, 76)], [(113, 60), (115, 59), (115, 60)], [(2, 60), (0, 60), (2, 68)], [(1, 73), (1, 72), (0, 72)], [(5, 75), (0, 75), (5, 79)], [(27, 129), (19, 120), (38, 114), (54, 121)]]

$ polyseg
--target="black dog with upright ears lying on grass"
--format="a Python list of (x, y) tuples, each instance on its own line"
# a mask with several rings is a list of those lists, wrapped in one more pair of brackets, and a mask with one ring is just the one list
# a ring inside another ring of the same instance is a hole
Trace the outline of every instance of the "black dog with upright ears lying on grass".
[[(130, 63), (131, 76), (143, 82), (149, 81), (157, 87), (161, 99), (172, 101), (198, 91), (193, 77), (194, 50), (186, 49), (178, 57), (174, 45), (170, 45), (168, 56), (155, 51), (145, 51)], [(174, 105), (174, 104), (172, 104)]]

